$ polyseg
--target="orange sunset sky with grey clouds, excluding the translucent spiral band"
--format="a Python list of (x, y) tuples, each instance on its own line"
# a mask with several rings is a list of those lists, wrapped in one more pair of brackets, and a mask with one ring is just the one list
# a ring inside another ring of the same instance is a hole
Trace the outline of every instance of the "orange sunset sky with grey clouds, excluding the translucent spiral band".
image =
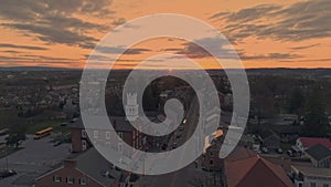
[[(96, 44), (116, 27), (153, 13), (179, 13), (200, 19), (222, 32), (246, 69), (331, 67), (330, 0), (0, 0), (0, 66), (83, 69)], [(205, 40), (205, 44), (222, 49), (217, 41)], [(115, 67), (132, 69), (164, 52), (186, 55), (205, 69), (220, 67), (201, 46), (173, 38), (135, 44)]]

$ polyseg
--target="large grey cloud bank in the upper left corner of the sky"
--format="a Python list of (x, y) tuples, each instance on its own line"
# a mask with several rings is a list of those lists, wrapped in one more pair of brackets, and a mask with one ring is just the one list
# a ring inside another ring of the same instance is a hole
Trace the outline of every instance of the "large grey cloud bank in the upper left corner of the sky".
[(84, 33), (105, 30), (107, 25), (87, 22), (75, 14), (110, 18), (111, 0), (0, 0), (0, 18), (7, 23), (2, 27), (22, 31), (47, 43), (61, 43), (93, 48), (96, 39)]

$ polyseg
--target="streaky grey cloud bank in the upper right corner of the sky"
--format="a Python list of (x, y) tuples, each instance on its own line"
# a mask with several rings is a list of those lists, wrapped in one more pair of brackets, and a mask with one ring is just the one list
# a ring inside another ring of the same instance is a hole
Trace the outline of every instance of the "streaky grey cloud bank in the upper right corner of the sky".
[(330, 10), (330, 0), (311, 0), (289, 7), (264, 4), (232, 13), (220, 12), (212, 18), (226, 21), (223, 31), (234, 41), (247, 37), (303, 41), (331, 37)]

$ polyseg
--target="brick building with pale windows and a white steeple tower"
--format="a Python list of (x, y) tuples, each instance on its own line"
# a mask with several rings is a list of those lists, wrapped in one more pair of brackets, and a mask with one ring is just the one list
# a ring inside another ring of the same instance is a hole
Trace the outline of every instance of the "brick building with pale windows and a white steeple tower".
[[(136, 149), (145, 150), (147, 136), (135, 128), (130, 121), (136, 121), (138, 125), (143, 125), (138, 116), (137, 94), (127, 94), (126, 116), (109, 116), (113, 128), (107, 124), (94, 124), (93, 128), (86, 129), (82, 118), (79, 117), (71, 125), (72, 132), (72, 152), (79, 153), (86, 150), (93, 145), (107, 146), (116, 149), (118, 153), (132, 155), (131, 149), (127, 152), (124, 143), (118, 143), (118, 137), (126, 144)], [(94, 118), (92, 118), (94, 117)], [(89, 116), (89, 121), (98, 122), (100, 116)], [(125, 149), (125, 150), (124, 150)], [(126, 153), (127, 152), (127, 153)]]

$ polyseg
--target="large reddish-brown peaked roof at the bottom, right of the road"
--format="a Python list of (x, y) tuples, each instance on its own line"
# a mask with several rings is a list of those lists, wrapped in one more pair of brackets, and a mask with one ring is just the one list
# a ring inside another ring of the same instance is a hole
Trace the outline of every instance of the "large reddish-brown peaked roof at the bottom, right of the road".
[(293, 184), (278, 165), (258, 155), (244, 159), (225, 162), (227, 187), (293, 187)]

